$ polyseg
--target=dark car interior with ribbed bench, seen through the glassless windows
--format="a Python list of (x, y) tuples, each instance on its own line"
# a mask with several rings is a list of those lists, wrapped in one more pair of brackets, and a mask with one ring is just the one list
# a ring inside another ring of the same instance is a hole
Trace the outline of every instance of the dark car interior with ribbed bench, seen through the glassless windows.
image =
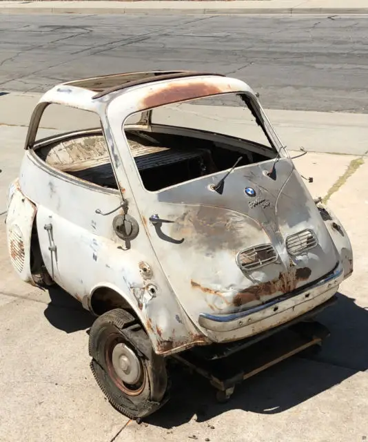
[[(269, 160), (276, 152), (247, 140), (167, 126), (125, 128), (132, 157), (148, 191), (193, 180), (237, 166)], [(170, 128), (169, 128), (170, 129)], [(172, 129), (172, 128), (171, 128)], [(176, 132), (176, 133), (172, 133)], [(99, 186), (117, 189), (108, 146), (101, 130), (74, 133), (35, 146), (46, 164)]]

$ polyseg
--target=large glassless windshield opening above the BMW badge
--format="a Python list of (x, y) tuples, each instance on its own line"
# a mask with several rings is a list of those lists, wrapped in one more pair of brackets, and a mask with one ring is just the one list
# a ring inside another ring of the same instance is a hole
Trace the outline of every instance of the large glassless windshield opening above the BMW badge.
[[(149, 191), (159, 191), (232, 167), (277, 155), (247, 97), (222, 94), (170, 104), (130, 115), (123, 131)], [(137, 122), (141, 121), (141, 126)]]

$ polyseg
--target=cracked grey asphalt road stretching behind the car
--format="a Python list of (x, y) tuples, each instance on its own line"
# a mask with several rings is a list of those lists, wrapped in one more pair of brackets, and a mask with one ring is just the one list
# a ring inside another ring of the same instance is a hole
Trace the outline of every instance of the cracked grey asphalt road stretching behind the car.
[(131, 70), (247, 81), (267, 108), (368, 113), (368, 17), (14, 15), (0, 23), (0, 91)]

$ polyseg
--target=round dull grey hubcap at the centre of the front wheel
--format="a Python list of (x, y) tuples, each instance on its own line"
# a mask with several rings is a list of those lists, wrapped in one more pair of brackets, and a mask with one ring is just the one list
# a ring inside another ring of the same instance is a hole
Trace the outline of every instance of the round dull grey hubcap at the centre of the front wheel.
[(116, 344), (112, 350), (112, 366), (124, 383), (134, 385), (141, 378), (141, 363), (132, 349), (125, 344)]

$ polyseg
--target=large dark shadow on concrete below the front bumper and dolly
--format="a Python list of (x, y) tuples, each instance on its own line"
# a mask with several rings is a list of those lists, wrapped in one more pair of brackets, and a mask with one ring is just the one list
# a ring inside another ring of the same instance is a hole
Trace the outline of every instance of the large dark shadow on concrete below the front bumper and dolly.
[(239, 384), (225, 404), (209, 381), (178, 367), (172, 372), (170, 403), (145, 422), (170, 429), (192, 419), (205, 422), (229, 410), (277, 414), (368, 369), (368, 311), (338, 294), (338, 302), (316, 318), (331, 336), (318, 356), (299, 354)]

